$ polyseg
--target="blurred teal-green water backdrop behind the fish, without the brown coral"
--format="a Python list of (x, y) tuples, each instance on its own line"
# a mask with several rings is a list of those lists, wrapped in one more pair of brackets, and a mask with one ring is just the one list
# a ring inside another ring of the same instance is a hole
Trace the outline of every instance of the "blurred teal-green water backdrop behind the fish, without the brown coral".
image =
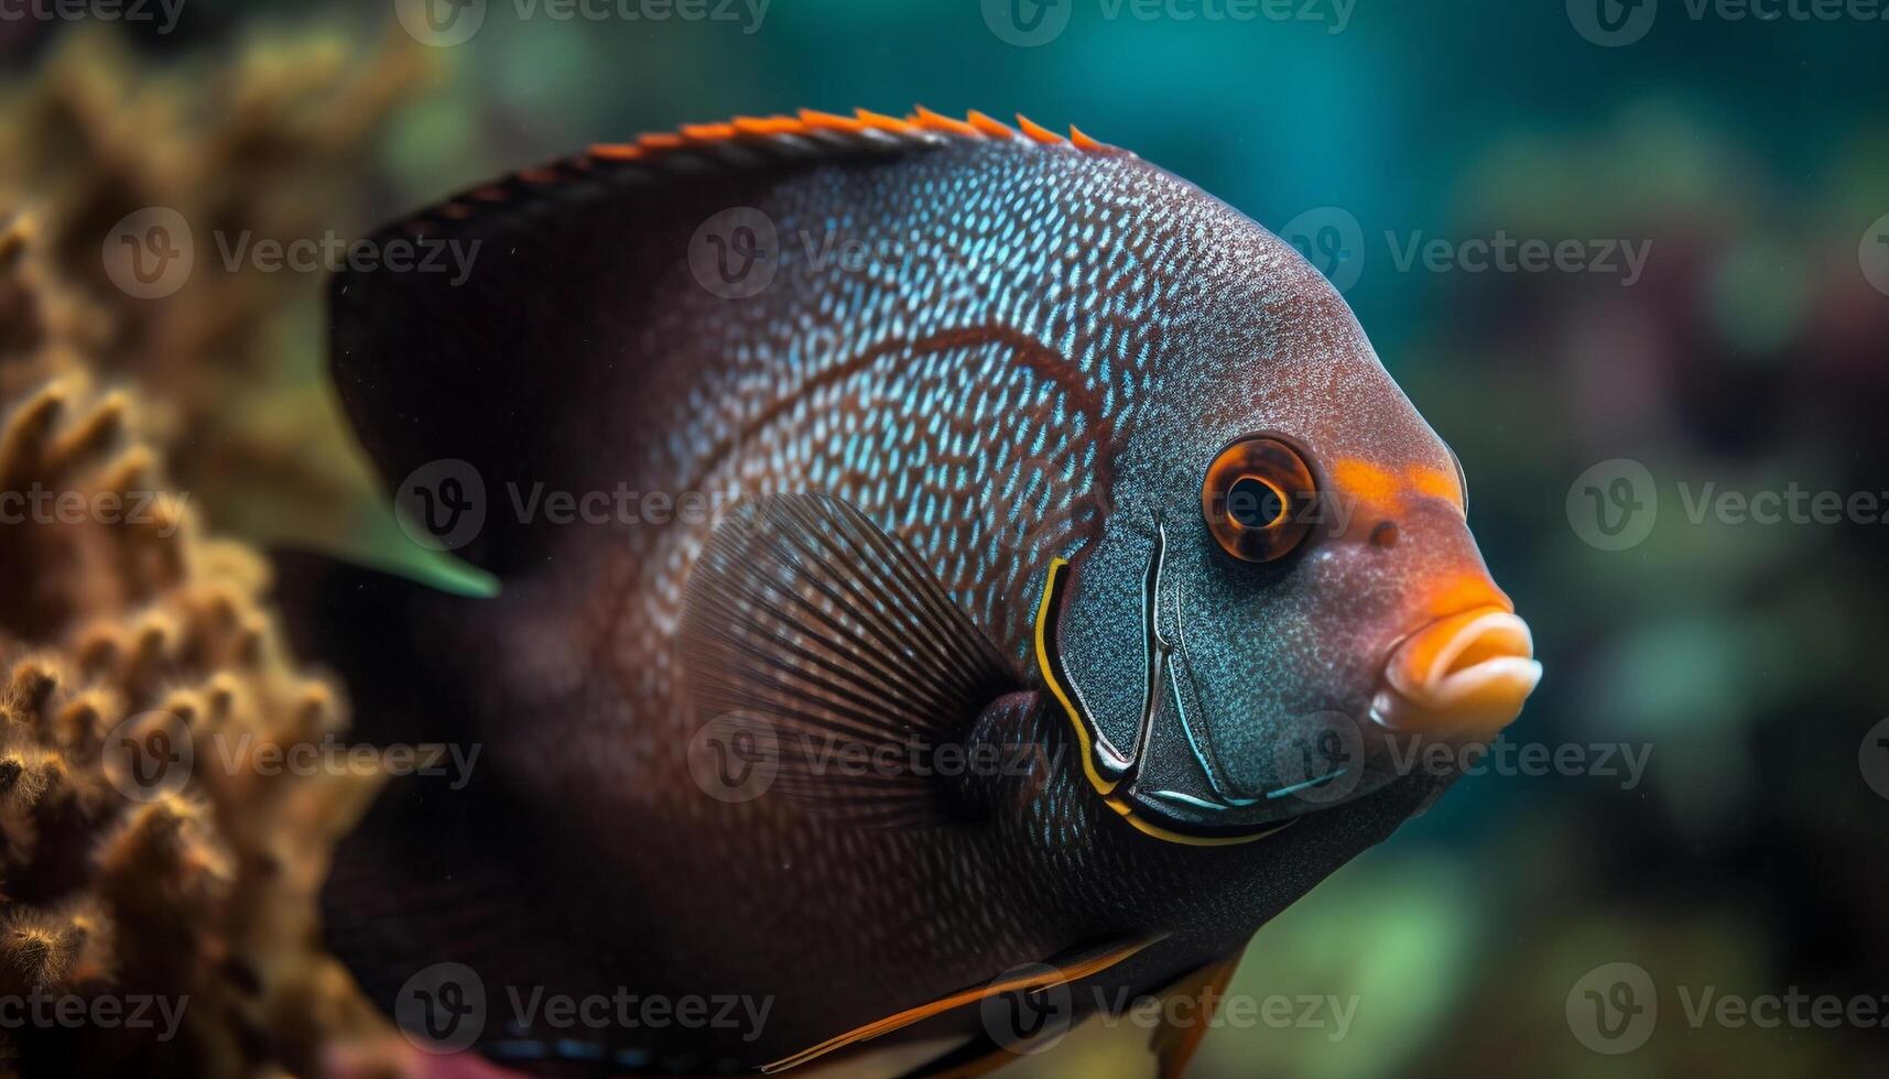
[[(1328, 1011), (1217, 1030), (1196, 1073), (1889, 1075), (1881, 1028), (1687, 1013), (1708, 988), (1889, 1011), (1889, 750), (1866, 737), (1889, 716), (1889, 527), (1687, 512), (1706, 484), (1889, 491), (1889, 244), (1872, 246), (1889, 231), (1889, 21), (1649, 0), (1651, 28), (1606, 47), (1581, 32), (1587, 0), (1356, 0), (1341, 32), (1330, 0), (1285, 6), (1303, 19), (1058, 0), (1045, 15), (1067, 25), (1020, 47), (1005, 11), (1033, 4), (1014, 2), (774, 0), (759, 23), (744, 4), (733, 21), (559, 21), (493, 2), (468, 42), (421, 49), (431, 79), (329, 225), (359, 232), (638, 130), (916, 102), (1077, 123), (1273, 229), (1319, 208), (1317, 227), (1354, 223), (1334, 274), (1460, 454), (1475, 533), (1536, 629), (1547, 678), (1511, 741), (1651, 756), (1638, 784), (1460, 782), (1247, 952), (1235, 992), (1353, 1002), (1343, 1036)], [(359, 0), (187, 0), (172, 34), (121, 30), (164, 62), (259, 34), (359, 51), (400, 34), (391, 4)], [(30, 79), (59, 32), (0, 26), (0, 55)], [(1630, 283), (1398, 265), (1413, 238), (1498, 232), (1649, 257)], [(319, 282), (298, 287), (283, 363), (319, 385)], [(1643, 542), (1602, 550), (1585, 488), (1600, 476), (1609, 499), (1623, 472), (1591, 469), (1617, 459), (1645, 467), (1659, 510), (1636, 518)], [(236, 495), (210, 510), (280, 539)], [(348, 529), (363, 548), (391, 535), (372, 514)], [(1577, 1030), (1583, 977), (1615, 962), (1647, 971), (1659, 1007), (1617, 1054)], [(1098, 1024), (1026, 1068), (1147, 1075), (1137, 1039)]]

